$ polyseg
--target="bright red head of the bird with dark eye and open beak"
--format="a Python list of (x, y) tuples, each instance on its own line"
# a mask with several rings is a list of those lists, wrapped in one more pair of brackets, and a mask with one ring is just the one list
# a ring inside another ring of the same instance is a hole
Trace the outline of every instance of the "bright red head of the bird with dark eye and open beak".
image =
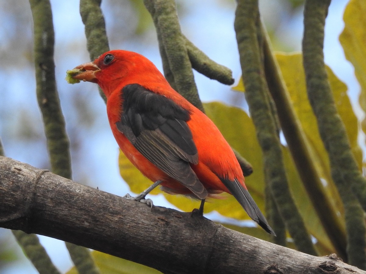
[(97, 83), (108, 96), (127, 84), (143, 84), (165, 78), (156, 66), (141, 54), (127, 50), (111, 50), (93, 62), (76, 66), (79, 72), (72, 78)]

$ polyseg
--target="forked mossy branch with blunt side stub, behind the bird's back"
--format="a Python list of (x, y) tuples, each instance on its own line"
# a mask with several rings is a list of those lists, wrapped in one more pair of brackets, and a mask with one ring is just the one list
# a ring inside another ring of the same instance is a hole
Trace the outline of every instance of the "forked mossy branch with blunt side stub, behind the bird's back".
[[(232, 72), (225, 66), (210, 60), (181, 32), (174, 0), (144, 0), (156, 28), (165, 78), (169, 84), (203, 113), (192, 67), (210, 79), (232, 84)], [(234, 151), (245, 176), (253, 169), (246, 159)]]

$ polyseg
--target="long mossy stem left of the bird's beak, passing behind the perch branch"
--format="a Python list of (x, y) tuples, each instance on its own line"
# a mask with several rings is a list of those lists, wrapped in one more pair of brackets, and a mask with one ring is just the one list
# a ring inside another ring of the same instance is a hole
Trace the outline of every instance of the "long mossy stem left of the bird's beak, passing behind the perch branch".
[[(44, 122), (47, 147), (51, 169), (54, 173), (71, 179), (71, 159), (69, 140), (65, 130), (65, 120), (61, 112), (60, 100), (56, 90), (55, 62), (53, 47), (55, 33), (53, 31), (52, 11), (49, 0), (30, 0), (34, 23), (34, 63), (36, 67), (37, 100)], [(67, 244), (70, 246), (71, 244)], [(93, 259), (89, 250), (84, 247), (69, 249), (76, 268), (80, 254), (87, 254), (89, 270), (83, 273), (98, 273), (94, 271)]]

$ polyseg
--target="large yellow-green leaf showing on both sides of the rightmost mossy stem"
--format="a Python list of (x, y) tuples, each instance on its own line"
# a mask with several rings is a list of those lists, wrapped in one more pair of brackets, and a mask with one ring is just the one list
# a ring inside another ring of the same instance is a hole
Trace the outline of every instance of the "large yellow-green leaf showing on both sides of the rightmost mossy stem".
[[(327, 183), (326, 189), (328, 190), (330, 197), (333, 198), (337, 209), (343, 213), (338, 191), (331, 178), (328, 153), (321, 141), (318, 132), (317, 120), (307, 98), (305, 75), (302, 67), (302, 56), (299, 53), (277, 53), (276, 58), (280, 65), (296, 115), (305, 132), (306, 140), (309, 145), (312, 158), (316, 163), (317, 171), (321, 178)], [(338, 113), (346, 126), (352, 151), (354, 152), (359, 166), (361, 167), (362, 151), (357, 144), (358, 122), (353, 112), (350, 99), (347, 96), (347, 87), (335, 76), (328, 66), (326, 67), (326, 70), (328, 72), (330, 87), (333, 91)]]

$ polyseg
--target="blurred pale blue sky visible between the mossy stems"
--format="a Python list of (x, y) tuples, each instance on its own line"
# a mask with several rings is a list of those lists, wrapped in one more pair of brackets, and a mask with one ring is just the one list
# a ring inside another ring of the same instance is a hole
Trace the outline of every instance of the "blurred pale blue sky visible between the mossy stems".
[[(17, 1), (25, 4), (11, 14), (6, 12), (11, 1), (0, 0), (0, 82), (3, 84), (0, 90), (0, 137), (6, 156), (38, 168), (48, 168), (42, 120), (35, 96), (34, 65), (27, 50), (31, 49), (33, 43), (31, 14), (26, 10), (29, 9), (27, 1)], [(260, 12), (267, 29), (274, 34), (272, 42), (276, 50), (300, 51), (303, 9), (292, 11), (283, 4), (285, 2), (260, 1)], [(362, 118), (364, 114), (357, 102), (359, 85), (338, 41), (343, 30), (342, 16), (346, 3), (346, 0), (338, 0), (332, 1), (330, 5), (325, 30), (325, 62), (347, 84), (352, 106), (358, 117)], [(74, 0), (51, 0), (51, 4), (55, 27), (57, 89), (72, 144), (73, 179), (122, 196), (129, 189), (119, 175), (117, 144), (109, 129), (105, 104), (98, 95), (97, 87), (92, 83), (70, 85), (64, 80), (67, 69), (89, 61), (79, 3)], [(233, 27), (235, 2), (179, 0), (178, 7), (182, 32), (214, 61), (232, 69), (238, 81), (241, 71)], [(143, 35), (134, 35), (138, 20), (127, 0), (105, 0), (102, 10), (110, 48), (143, 54), (162, 71), (153, 26)], [(19, 38), (17, 35), (22, 36)], [(12, 39), (15, 38), (24, 42), (13, 45)], [(203, 102), (220, 100), (247, 109), (242, 94), (196, 72), (194, 75)], [(156, 205), (174, 208), (162, 195), (150, 198)], [(208, 217), (219, 218), (214, 213)], [(61, 272), (67, 271), (71, 262), (64, 243), (44, 236), (40, 236), (40, 240)], [(15, 248), (23, 258), (21, 263), (7, 264), (0, 269), (0, 273), (37, 273), (22, 255), (9, 230), (0, 229), (0, 243), (4, 243), (7, 248)]]

